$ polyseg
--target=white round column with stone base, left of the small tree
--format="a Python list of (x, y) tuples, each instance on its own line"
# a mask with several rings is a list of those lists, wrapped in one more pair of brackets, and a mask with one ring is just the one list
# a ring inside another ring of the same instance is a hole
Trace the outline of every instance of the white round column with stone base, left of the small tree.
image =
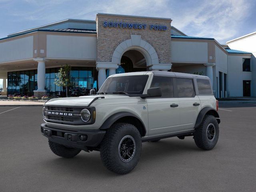
[(38, 62), (37, 66), (37, 90), (34, 90), (34, 96), (38, 97), (39, 99), (42, 96), (46, 95), (45, 88), (45, 62), (47, 62), (44, 58), (36, 58), (34, 61)]

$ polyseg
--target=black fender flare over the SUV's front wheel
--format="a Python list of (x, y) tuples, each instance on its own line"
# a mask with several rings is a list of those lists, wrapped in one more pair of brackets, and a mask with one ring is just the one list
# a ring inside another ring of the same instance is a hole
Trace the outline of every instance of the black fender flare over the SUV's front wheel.
[(141, 128), (142, 128), (142, 136), (145, 136), (145, 134), (146, 134), (146, 127), (145, 127), (143, 121), (138, 116), (136, 116), (136, 115), (134, 115), (134, 114), (132, 114), (130, 112), (118, 112), (116, 114), (113, 114), (112, 116), (107, 118), (107, 120), (105, 120), (105, 122), (102, 124), (102, 126), (100, 126), (100, 129), (101, 130), (109, 129), (114, 122), (116, 122), (120, 118), (128, 117), (128, 116), (132, 116), (132, 117), (134, 117), (134, 118), (136, 118), (138, 120), (138, 122), (140, 123)]

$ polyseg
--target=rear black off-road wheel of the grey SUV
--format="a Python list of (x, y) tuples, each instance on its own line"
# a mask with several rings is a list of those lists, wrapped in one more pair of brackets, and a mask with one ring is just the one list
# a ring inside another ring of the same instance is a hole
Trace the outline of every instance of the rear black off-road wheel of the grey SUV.
[(218, 138), (219, 125), (216, 118), (206, 115), (194, 134), (196, 145), (201, 149), (211, 150), (217, 144)]

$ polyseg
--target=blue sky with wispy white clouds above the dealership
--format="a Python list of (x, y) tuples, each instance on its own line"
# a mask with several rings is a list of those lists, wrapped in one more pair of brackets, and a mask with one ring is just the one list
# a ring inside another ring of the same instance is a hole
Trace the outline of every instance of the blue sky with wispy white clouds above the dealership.
[(172, 18), (185, 34), (224, 44), (256, 31), (255, 10), (255, 0), (0, 0), (0, 38), (67, 18), (95, 20), (100, 12)]

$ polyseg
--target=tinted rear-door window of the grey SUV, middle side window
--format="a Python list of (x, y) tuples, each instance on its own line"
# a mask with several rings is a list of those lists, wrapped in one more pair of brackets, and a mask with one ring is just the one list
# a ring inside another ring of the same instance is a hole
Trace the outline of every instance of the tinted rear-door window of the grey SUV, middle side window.
[(195, 91), (192, 79), (176, 78), (178, 97), (194, 97)]

